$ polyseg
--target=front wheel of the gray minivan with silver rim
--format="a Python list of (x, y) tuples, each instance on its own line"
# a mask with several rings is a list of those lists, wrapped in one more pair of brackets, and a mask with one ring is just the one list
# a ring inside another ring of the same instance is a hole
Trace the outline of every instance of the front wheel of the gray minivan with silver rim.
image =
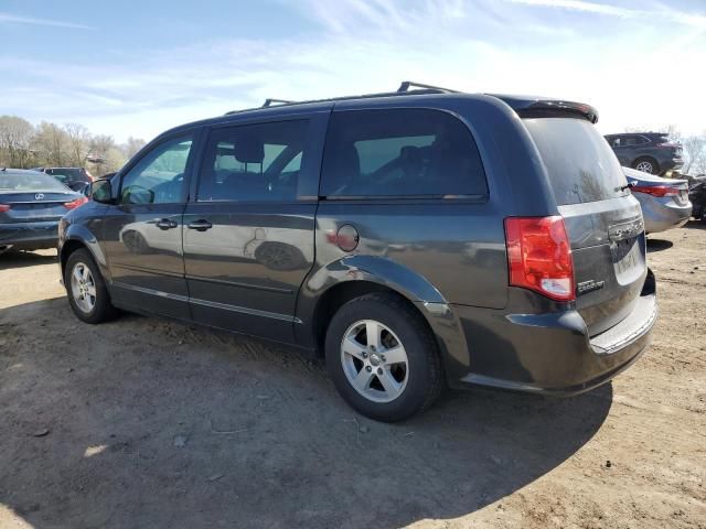
[[(77, 276), (73, 277), (75, 273)], [(110, 303), (106, 283), (88, 250), (79, 249), (68, 256), (64, 269), (64, 287), (68, 304), (82, 322), (95, 324), (116, 316), (117, 310)]]

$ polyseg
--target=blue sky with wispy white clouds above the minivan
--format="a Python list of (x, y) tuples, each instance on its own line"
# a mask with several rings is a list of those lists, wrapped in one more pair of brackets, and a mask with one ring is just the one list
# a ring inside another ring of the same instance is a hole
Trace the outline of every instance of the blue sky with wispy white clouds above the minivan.
[(0, 0), (0, 114), (122, 141), (400, 80), (706, 130), (706, 0)]

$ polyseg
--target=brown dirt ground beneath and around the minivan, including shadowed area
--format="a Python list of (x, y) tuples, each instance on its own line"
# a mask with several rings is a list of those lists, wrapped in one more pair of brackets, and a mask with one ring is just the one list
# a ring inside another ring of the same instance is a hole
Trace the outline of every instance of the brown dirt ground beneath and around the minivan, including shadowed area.
[(395, 425), (292, 350), (81, 324), (54, 251), (2, 256), (0, 527), (706, 528), (706, 229), (649, 249), (654, 342), (612, 384), (447, 392)]

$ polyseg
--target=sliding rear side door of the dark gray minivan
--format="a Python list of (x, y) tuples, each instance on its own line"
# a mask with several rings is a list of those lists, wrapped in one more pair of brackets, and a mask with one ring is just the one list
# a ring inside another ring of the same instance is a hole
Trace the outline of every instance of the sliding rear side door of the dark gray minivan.
[(323, 129), (325, 120), (296, 116), (210, 132), (183, 227), (195, 321), (293, 339), (297, 294), (314, 260), (314, 123)]

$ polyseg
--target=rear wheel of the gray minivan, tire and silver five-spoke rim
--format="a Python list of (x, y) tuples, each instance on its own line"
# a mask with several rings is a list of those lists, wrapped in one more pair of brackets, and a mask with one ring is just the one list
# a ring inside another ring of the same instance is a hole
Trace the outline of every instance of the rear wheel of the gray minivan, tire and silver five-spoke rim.
[[(377, 346), (368, 344), (368, 330), (377, 330)], [(327, 330), (325, 357), (341, 397), (377, 421), (402, 421), (426, 410), (445, 386), (427, 322), (392, 294), (367, 294), (339, 309)]]

